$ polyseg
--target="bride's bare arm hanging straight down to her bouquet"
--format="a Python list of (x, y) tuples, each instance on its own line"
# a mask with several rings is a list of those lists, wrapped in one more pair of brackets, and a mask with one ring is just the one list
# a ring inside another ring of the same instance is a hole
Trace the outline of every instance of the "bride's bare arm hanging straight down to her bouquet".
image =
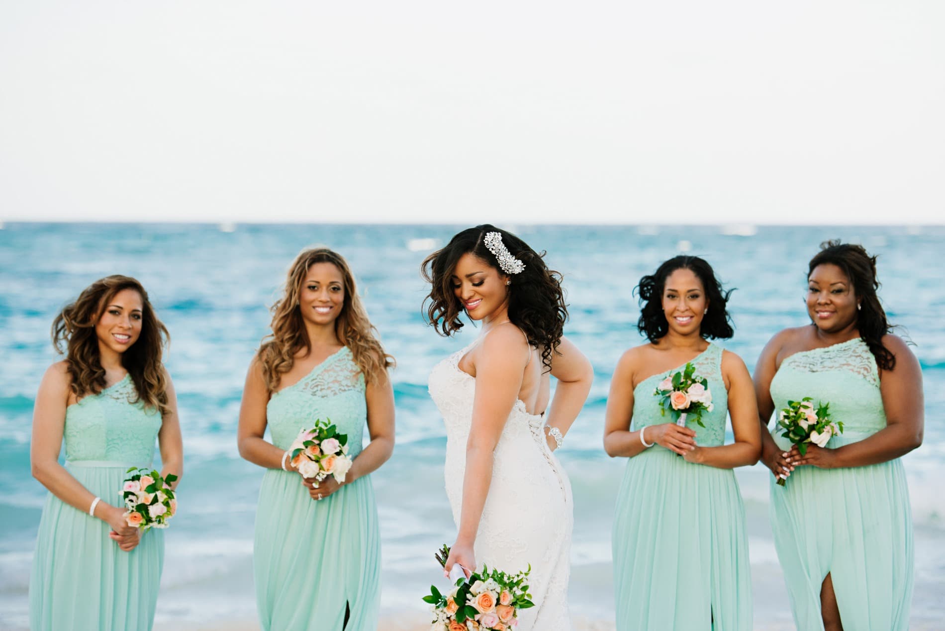
[(522, 332), (514, 326), (490, 331), (477, 351), (459, 534), (446, 560), (447, 573), (454, 563), (467, 570), (475, 569), (472, 547), (492, 482), (493, 451), (522, 388), (528, 354)]

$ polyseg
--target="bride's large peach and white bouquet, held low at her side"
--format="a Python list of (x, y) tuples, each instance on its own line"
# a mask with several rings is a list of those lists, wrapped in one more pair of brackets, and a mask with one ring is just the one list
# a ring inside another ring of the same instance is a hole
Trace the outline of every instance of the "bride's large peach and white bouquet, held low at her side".
[[(441, 566), (446, 566), (449, 554), (450, 549), (446, 546), (437, 553)], [(433, 605), (434, 620), (430, 631), (514, 629), (519, 625), (519, 610), (535, 606), (529, 600), (531, 594), (525, 584), (529, 572), (531, 566), (517, 574), (483, 566), (482, 570), (472, 572), (469, 578), (458, 579), (456, 587), (449, 593), (441, 593), (436, 586), (430, 586), (430, 595), (423, 597), (425, 603)]]

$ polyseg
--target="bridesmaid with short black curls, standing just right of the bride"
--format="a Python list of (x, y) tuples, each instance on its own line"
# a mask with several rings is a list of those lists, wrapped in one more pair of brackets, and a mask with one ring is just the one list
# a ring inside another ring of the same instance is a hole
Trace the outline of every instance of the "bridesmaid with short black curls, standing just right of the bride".
[[(745, 362), (709, 342), (732, 336), (730, 292), (698, 256), (669, 259), (639, 289), (637, 327), (649, 342), (617, 363), (604, 436), (610, 456), (627, 458), (613, 521), (617, 629), (749, 631), (745, 508), (732, 469), (758, 462), (758, 412)], [(679, 426), (655, 393), (673, 389), (688, 364), (708, 387), (686, 397), (708, 410), (701, 424), (689, 414)]]

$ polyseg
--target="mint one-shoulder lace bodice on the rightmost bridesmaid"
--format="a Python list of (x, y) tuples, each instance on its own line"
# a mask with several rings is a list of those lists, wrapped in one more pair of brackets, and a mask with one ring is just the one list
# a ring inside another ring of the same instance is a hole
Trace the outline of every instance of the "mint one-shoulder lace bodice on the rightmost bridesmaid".
[(782, 361), (771, 379), (775, 413), (786, 407), (788, 400), (799, 401), (805, 396), (813, 397), (815, 403), (830, 403), (833, 420), (843, 421), (843, 434), (834, 436), (828, 447), (839, 447), (854, 436), (862, 439), (862, 434), (885, 428), (879, 369), (861, 338), (801, 351)]

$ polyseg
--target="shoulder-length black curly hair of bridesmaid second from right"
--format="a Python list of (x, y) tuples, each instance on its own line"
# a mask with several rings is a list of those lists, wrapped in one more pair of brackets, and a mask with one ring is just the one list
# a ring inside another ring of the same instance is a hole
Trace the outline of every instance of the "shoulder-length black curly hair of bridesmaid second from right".
[(726, 308), (729, 296), (734, 289), (725, 291), (722, 284), (715, 278), (712, 266), (704, 258), (679, 254), (668, 261), (664, 261), (651, 275), (640, 279), (635, 291), (640, 295), (640, 320), (637, 329), (650, 342), (660, 340), (669, 332), (669, 323), (666, 314), (662, 311), (662, 290), (666, 287), (666, 279), (677, 270), (690, 270), (702, 282), (706, 298), (709, 299), (709, 312), (702, 318), (699, 334), (703, 338), (713, 340), (727, 340), (735, 331), (731, 327), (731, 316)]

